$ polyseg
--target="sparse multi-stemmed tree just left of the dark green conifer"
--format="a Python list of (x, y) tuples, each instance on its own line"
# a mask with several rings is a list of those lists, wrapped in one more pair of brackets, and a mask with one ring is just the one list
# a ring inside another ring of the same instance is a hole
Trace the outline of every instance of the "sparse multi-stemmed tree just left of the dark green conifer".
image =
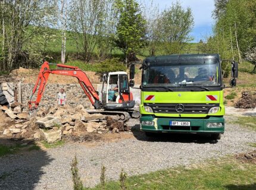
[(76, 42), (77, 52), (89, 62), (101, 40), (104, 29), (104, 0), (74, 0), (70, 6), (69, 28)]

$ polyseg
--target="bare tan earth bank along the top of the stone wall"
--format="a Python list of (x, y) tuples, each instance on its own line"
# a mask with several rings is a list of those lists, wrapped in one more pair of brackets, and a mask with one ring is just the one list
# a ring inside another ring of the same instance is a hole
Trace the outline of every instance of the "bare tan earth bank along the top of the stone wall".
[[(23, 83), (35, 83), (38, 78), (39, 69), (25, 69), (18, 68), (11, 71), (9, 75), (0, 76), (0, 83), (17, 83), (21, 81)], [(100, 78), (96, 75), (95, 72), (85, 71), (89, 80), (93, 84), (98, 84), (100, 82)], [(69, 76), (62, 75), (49, 75), (48, 83), (50, 84), (76, 84), (78, 83), (77, 79)]]

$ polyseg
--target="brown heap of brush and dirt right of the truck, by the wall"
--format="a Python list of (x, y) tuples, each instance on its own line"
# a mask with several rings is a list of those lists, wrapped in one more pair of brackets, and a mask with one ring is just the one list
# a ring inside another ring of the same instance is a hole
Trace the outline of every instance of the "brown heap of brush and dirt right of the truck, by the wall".
[(236, 102), (236, 107), (242, 109), (255, 108), (256, 93), (251, 94), (249, 91), (242, 91), (242, 97)]

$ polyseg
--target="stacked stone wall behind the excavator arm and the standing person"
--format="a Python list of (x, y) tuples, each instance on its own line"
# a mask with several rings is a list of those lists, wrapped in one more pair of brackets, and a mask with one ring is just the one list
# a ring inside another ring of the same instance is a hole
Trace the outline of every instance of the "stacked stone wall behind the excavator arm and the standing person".
[[(34, 85), (35, 84), (21, 84), (23, 105), (27, 105), (27, 102), (30, 100)], [(68, 105), (83, 105), (85, 107), (89, 107), (91, 105), (80, 84), (47, 84), (39, 107), (48, 108), (49, 106), (57, 105), (57, 94), (60, 91), (60, 88), (64, 88), (64, 91), (67, 94)], [(34, 94), (32, 100), (36, 99), (37, 93), (38, 90)]]

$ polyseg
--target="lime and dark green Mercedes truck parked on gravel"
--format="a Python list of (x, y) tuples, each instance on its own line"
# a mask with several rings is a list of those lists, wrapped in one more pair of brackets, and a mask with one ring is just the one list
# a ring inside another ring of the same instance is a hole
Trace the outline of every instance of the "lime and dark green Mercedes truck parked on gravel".
[[(168, 55), (146, 58), (141, 66), (141, 131), (210, 134), (224, 133), (221, 62), (232, 65), (230, 87), (236, 85), (238, 63), (218, 54)], [(134, 85), (135, 65), (130, 67)]]

